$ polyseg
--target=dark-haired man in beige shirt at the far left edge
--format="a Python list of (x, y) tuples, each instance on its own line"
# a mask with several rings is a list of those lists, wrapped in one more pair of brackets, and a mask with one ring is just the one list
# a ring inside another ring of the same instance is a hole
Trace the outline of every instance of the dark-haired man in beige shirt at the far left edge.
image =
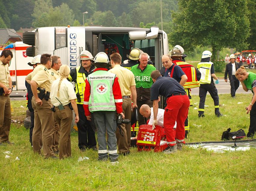
[(9, 62), (13, 57), (10, 50), (3, 50), (0, 55), (0, 145), (13, 144), (9, 141), (11, 127), (12, 81), (9, 72)]

